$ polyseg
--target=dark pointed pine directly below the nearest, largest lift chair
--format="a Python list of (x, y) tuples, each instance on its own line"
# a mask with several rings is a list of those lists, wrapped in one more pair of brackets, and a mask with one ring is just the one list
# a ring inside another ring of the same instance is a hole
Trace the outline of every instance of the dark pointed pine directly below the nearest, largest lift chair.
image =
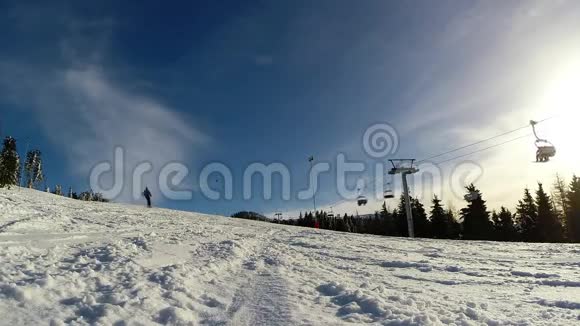
[(542, 242), (562, 241), (562, 224), (554, 212), (550, 196), (544, 191), (541, 183), (538, 184), (538, 191), (536, 191), (536, 205), (538, 206), (538, 239)]

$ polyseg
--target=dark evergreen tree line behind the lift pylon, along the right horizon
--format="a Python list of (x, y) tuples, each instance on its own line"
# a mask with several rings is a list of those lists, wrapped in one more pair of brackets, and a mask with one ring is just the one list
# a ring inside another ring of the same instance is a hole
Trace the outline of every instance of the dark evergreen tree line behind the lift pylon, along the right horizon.
[[(580, 242), (580, 178), (573, 176), (566, 183), (559, 176), (553, 192), (548, 194), (538, 183), (532, 193), (525, 189), (515, 212), (506, 207), (489, 211), (483, 194), (474, 185), (466, 187), (465, 207), (458, 213), (445, 208), (434, 197), (427, 208), (411, 197), (413, 226), (416, 237), (455, 240), (491, 240), (523, 242)], [(398, 207), (382, 209), (370, 216), (334, 216), (325, 211), (300, 213), (297, 218), (267, 219), (254, 212), (239, 212), (232, 217), (269, 221), (286, 225), (320, 229), (407, 237), (405, 201)]]

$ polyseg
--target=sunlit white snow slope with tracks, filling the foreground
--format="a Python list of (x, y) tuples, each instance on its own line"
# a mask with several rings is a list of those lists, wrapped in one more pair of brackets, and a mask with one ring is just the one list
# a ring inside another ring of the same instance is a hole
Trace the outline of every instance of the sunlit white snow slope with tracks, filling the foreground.
[(580, 246), (409, 240), (0, 189), (2, 325), (580, 324)]

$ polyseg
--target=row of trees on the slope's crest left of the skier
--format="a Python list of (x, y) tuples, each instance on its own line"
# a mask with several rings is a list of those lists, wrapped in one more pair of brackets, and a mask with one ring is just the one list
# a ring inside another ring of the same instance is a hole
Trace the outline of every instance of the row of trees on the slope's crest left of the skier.
[[(23, 179), (23, 180), (22, 180)], [(30, 150), (26, 153), (24, 162), (20, 161), (20, 155), (16, 147), (16, 139), (6, 137), (3, 141), (2, 151), (0, 152), (0, 188), (10, 189), (12, 186), (20, 186), (22, 182), (30, 189), (39, 189), (41, 183), (45, 181), (42, 164), (42, 152), (38, 149)], [(72, 191), (69, 187), (67, 193), (63, 192), (61, 185), (56, 185), (51, 191), (50, 187), (44, 187), (46, 192), (59, 196), (68, 196), (69, 198), (107, 202), (100, 193), (92, 191), (83, 191), (80, 194)]]

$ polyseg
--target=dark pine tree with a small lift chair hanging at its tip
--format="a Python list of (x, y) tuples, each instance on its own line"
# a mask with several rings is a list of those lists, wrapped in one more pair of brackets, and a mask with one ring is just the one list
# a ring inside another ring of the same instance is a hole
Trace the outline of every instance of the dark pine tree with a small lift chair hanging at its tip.
[(490, 216), (485, 201), (479, 190), (473, 184), (467, 186), (466, 189), (469, 193), (479, 193), (479, 196), (468, 201), (468, 206), (461, 210), (463, 239), (490, 240), (492, 236), (492, 225), (489, 220)]

